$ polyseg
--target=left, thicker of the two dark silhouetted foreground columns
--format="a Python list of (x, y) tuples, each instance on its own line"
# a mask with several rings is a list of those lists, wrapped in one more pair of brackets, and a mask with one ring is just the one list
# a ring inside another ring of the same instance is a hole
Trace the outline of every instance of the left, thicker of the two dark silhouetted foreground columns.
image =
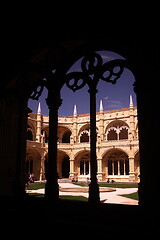
[(60, 99), (60, 93), (57, 93), (56, 89), (49, 89), (46, 102), (49, 108), (49, 142), (45, 197), (48, 200), (56, 201), (59, 199), (59, 185), (57, 173), (57, 128), (58, 109), (62, 104), (62, 100)]

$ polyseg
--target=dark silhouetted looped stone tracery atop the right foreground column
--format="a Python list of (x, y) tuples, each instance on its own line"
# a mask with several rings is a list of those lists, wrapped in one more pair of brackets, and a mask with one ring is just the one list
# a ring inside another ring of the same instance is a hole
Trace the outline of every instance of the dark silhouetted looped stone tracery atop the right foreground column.
[(116, 59), (103, 64), (98, 53), (91, 53), (82, 58), (81, 72), (70, 72), (66, 75), (66, 85), (73, 92), (88, 84), (89, 88), (97, 86), (100, 79), (115, 84), (123, 73), (126, 60)]

